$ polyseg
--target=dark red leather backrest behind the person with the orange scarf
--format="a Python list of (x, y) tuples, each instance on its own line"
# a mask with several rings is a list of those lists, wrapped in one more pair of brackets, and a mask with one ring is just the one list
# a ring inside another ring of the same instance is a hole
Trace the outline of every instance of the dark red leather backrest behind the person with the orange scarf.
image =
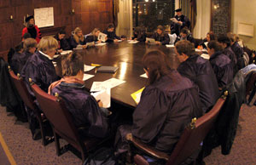
[(35, 83), (31, 83), (31, 87), (40, 108), (44, 111), (45, 117), (47, 117), (55, 132), (69, 143), (76, 146), (80, 145), (78, 130), (75, 128), (71, 114), (67, 111), (61, 98), (58, 95), (53, 96), (45, 93)]

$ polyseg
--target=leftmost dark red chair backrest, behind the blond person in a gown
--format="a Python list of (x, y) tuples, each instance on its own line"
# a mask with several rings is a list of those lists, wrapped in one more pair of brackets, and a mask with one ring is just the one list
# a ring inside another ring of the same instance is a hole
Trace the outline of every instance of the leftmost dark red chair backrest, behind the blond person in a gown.
[(16, 76), (15, 72), (12, 71), (9, 66), (9, 75), (10, 75), (13, 83), (15, 83), (15, 88), (18, 90), (21, 100), (23, 100), (25, 105), (28, 106), (30, 109), (35, 110), (36, 105), (34, 105), (32, 96), (31, 96), (31, 94), (29, 94), (29, 92), (26, 88), (26, 84), (23, 82), (23, 79), (20, 77), (20, 74), (18, 73)]

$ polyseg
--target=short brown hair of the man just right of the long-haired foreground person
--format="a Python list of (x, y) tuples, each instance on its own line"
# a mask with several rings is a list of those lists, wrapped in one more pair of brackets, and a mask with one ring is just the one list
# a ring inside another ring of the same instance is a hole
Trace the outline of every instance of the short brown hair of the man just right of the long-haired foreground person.
[(186, 54), (188, 56), (195, 54), (194, 43), (191, 43), (187, 40), (178, 41), (175, 43), (175, 48), (178, 54)]

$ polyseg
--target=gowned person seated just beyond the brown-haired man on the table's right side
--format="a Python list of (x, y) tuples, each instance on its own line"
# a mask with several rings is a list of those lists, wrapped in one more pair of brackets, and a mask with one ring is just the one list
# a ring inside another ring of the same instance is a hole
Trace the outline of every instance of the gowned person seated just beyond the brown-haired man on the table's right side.
[(218, 88), (222, 89), (233, 80), (233, 65), (230, 58), (223, 53), (223, 47), (217, 41), (208, 43), (210, 63), (218, 81)]

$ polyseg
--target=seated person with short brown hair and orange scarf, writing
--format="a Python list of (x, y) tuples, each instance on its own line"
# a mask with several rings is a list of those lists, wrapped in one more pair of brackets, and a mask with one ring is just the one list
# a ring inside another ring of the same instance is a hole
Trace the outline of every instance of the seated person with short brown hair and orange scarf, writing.
[(84, 89), (84, 62), (79, 54), (71, 53), (61, 62), (60, 81), (49, 86), (49, 94), (58, 93), (72, 114), (74, 125), (84, 136), (104, 138), (108, 135), (107, 109)]

